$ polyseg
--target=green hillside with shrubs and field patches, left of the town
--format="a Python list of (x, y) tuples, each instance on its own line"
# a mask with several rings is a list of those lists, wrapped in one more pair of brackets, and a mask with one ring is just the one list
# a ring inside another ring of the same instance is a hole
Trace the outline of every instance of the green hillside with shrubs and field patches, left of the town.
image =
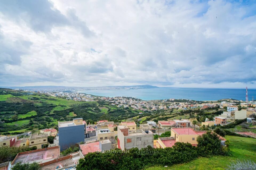
[(0, 133), (21, 133), (44, 128), (58, 128), (58, 121), (125, 120), (139, 111), (118, 108), (105, 101), (73, 101), (46, 94), (0, 88)]

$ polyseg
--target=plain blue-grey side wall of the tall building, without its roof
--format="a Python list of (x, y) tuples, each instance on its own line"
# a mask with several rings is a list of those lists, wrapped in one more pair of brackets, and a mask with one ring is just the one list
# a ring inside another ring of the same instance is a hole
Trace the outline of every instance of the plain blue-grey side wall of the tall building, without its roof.
[(85, 141), (85, 125), (75, 125), (59, 128), (60, 150), (67, 149), (70, 145)]

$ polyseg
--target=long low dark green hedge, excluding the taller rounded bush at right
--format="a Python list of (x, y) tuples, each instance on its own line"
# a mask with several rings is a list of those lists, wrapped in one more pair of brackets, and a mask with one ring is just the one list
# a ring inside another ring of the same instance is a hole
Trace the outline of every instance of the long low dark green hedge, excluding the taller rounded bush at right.
[[(105, 169), (105, 170), (138, 170), (145, 166), (173, 165), (189, 162), (198, 157), (197, 148), (190, 143), (176, 142), (173, 148), (132, 148), (127, 152), (119, 149), (112, 152), (93, 152), (79, 160), (77, 170)], [(154, 161), (152, 161), (154, 160)]]

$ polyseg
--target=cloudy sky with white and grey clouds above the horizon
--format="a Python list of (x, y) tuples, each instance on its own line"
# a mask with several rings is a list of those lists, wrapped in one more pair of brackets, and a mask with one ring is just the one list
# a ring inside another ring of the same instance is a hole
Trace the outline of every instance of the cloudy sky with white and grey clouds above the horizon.
[(255, 1), (0, 1), (0, 86), (256, 88)]

